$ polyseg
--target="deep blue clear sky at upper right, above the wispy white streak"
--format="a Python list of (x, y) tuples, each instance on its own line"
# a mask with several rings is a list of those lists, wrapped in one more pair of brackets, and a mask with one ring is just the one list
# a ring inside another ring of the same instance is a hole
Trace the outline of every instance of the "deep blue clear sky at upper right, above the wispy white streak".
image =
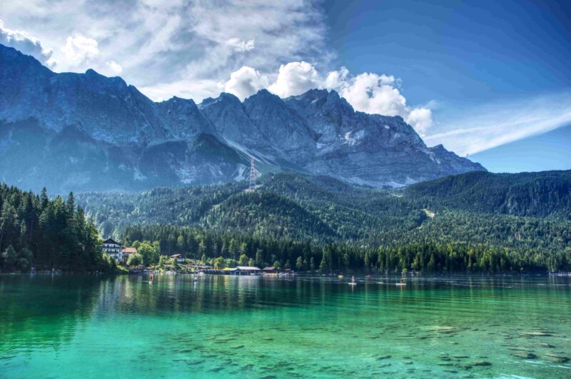
[(350, 71), (400, 77), (413, 103), (571, 88), (571, 3), (471, 3), (328, 1), (330, 43)]

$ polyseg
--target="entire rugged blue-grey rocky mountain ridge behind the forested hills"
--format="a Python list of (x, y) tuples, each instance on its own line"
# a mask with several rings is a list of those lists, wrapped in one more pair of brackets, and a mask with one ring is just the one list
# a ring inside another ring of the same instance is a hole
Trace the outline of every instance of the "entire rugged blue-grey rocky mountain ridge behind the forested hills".
[(428, 148), (399, 116), (355, 112), (335, 91), (156, 103), (119, 77), (56, 74), (0, 45), (4, 181), (51, 192), (226, 183), (246, 179), (250, 156), (262, 173), (288, 168), (376, 188), (485, 171)]

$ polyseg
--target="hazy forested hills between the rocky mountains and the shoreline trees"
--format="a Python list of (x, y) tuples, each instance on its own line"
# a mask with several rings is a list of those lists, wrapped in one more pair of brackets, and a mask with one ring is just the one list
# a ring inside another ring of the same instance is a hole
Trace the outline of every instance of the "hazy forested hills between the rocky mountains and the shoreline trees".
[[(82, 193), (78, 201), (104, 235), (118, 238), (134, 225), (170, 225), (317, 245), (468, 243), (525, 254), (571, 251), (571, 171), (523, 173), (508, 181), (502, 174), (466, 173), (390, 191), (293, 171), (261, 182), (253, 192), (229, 183)], [(473, 190), (450, 184), (460, 182), (473, 183)], [(490, 205), (490, 188), (497, 206)], [(510, 201), (517, 207), (505, 206)], [(176, 233), (171, 237), (176, 240)]]

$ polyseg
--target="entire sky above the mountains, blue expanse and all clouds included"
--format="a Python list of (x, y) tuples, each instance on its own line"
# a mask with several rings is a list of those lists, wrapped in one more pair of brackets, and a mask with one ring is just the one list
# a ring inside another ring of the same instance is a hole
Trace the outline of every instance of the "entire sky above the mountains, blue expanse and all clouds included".
[(154, 100), (335, 89), (517, 171), (498, 146), (527, 138), (531, 166), (529, 137), (571, 124), (570, 17), (568, 1), (24, 0), (0, 3), (0, 43)]

